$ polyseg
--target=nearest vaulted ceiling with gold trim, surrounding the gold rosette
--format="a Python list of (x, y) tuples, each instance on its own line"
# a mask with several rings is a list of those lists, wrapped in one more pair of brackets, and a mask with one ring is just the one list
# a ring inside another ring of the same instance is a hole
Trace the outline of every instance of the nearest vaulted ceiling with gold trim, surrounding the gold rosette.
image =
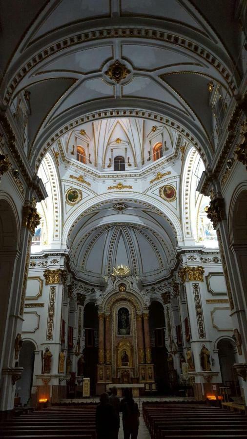
[[(218, 0), (215, 8), (203, 0), (1, 0), (0, 7), (0, 95), (14, 111), (18, 94), (30, 92), (33, 148), (47, 149), (86, 120), (134, 115), (178, 124), (212, 156), (207, 84), (231, 96), (241, 80), (244, 1)], [(116, 60), (128, 72), (119, 83), (107, 74)]]

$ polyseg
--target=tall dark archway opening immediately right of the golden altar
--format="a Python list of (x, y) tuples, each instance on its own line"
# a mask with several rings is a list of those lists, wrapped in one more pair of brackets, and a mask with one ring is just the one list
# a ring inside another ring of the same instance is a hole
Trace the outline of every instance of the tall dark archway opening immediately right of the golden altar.
[(165, 348), (165, 315), (163, 305), (154, 300), (149, 307), (152, 360), (154, 363), (157, 390), (161, 395), (167, 394), (168, 363)]

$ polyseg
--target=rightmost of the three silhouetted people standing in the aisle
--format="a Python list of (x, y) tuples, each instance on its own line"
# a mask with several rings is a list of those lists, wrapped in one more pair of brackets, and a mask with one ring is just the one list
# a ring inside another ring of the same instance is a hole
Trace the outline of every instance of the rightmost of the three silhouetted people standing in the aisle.
[(129, 389), (125, 389), (124, 398), (120, 403), (123, 412), (124, 439), (137, 439), (140, 411)]

